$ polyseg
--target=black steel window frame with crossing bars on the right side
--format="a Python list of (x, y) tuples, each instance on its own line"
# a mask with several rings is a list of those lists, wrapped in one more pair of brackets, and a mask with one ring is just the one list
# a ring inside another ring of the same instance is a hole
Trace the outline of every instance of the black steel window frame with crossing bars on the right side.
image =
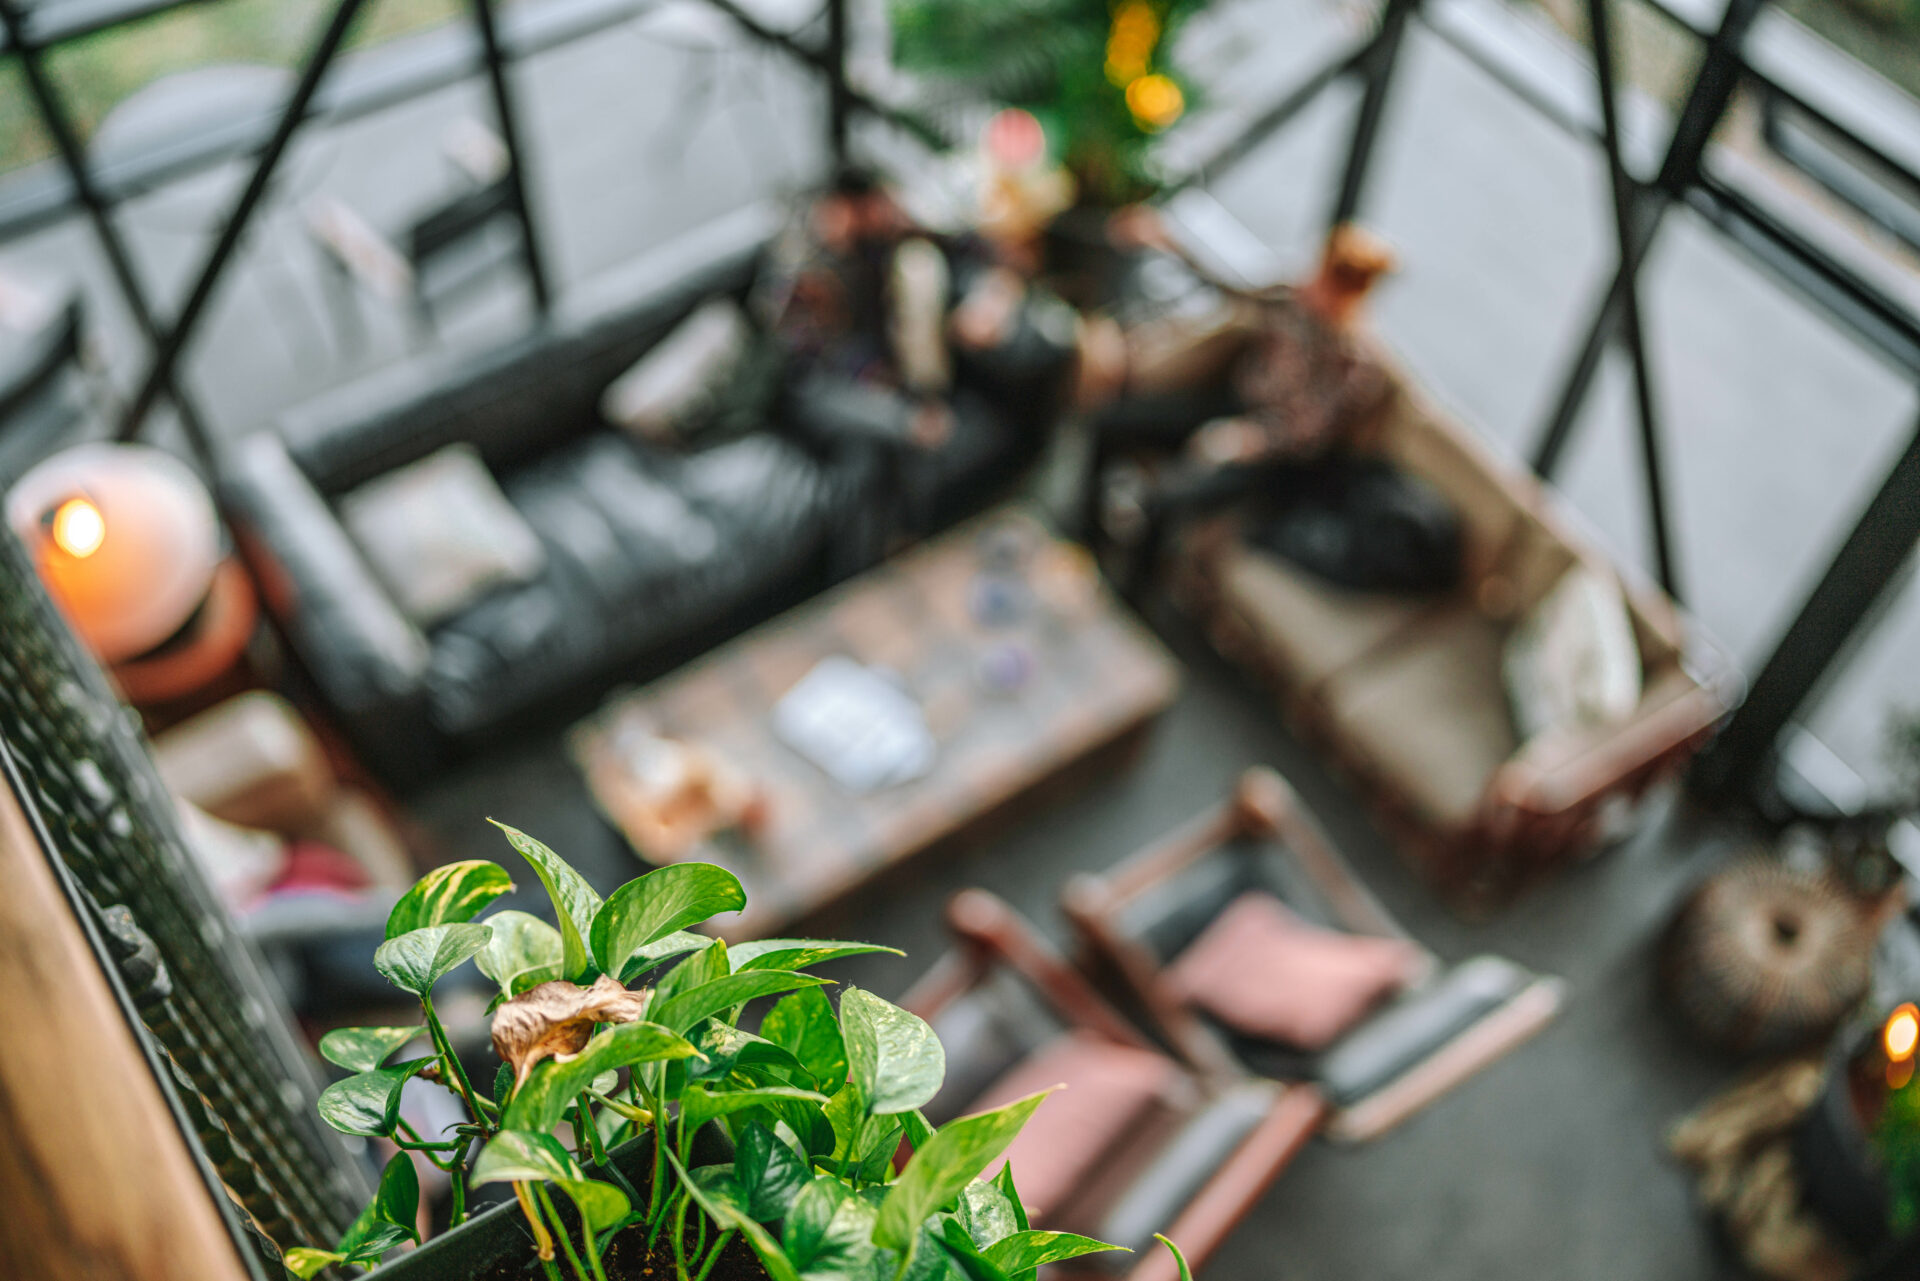
[[(1619, 88), (1613, 56), (1609, 0), (1588, 0), (1588, 31), (1596, 61), (1594, 109), (1567, 104), (1530, 83), (1496, 50), (1473, 33), (1446, 19), (1442, 0), (1386, 0), (1379, 23), (1352, 48), (1340, 52), (1298, 85), (1279, 94), (1238, 136), (1217, 148), (1183, 175), (1175, 186), (1200, 184), (1250, 156), (1269, 134), (1283, 129), (1323, 90), (1340, 81), (1361, 83), (1359, 108), (1346, 150), (1331, 225), (1359, 215), (1373, 171), (1373, 154), (1386, 98), (1400, 69), (1402, 44), (1409, 21), (1423, 25), (1465, 54), (1476, 67), (1507, 86), (1526, 106), (1569, 133), (1596, 142), (1605, 152), (1609, 175), (1609, 223), (1613, 225), (1615, 267), (1590, 302), (1588, 323), (1578, 350), (1557, 382), (1557, 396), (1540, 426), (1532, 467), (1551, 480), (1576, 430), (1599, 369), (1601, 355), (1624, 346), (1634, 375), (1634, 411), (1647, 490), (1647, 520), (1655, 574), (1682, 599), (1678, 549), (1668, 517), (1663, 428), (1657, 415), (1655, 365), (1649, 359), (1640, 319), (1640, 275), (1661, 221), (1674, 205), (1697, 213), (1728, 244), (1784, 282), (1803, 303), (1822, 311), (1860, 346), (1885, 361), (1903, 378), (1920, 386), (1920, 317), (1885, 290), (1816, 246), (1707, 167), (1707, 144), (1726, 117), (1736, 92), (1751, 86), (1764, 100), (1786, 104), (1837, 136), (1903, 188), (1920, 190), (1920, 177), (1874, 140), (1836, 119), (1820, 104), (1786, 83), (1772, 67), (1757, 61), (1749, 35), (1766, 0), (1726, 0), (1724, 10), (1705, 12), (1711, 0), (1647, 0), (1670, 23), (1703, 42), (1701, 61), (1674, 119), (1661, 165), (1651, 179), (1638, 179), (1622, 157), (1619, 127)], [(1845, 198), (1843, 192), (1839, 192)], [(1920, 542), (1920, 424), (1899, 461), (1868, 499), (1851, 534), (1841, 542), (1818, 586), (1803, 601), (1772, 655), (1753, 678), (1747, 699), (1716, 739), (1699, 757), (1690, 786), (1705, 799), (1743, 799), (1766, 787), (1776, 761), (1776, 743), (1801, 705), (1818, 689), (1832, 663), (1874, 613)]]

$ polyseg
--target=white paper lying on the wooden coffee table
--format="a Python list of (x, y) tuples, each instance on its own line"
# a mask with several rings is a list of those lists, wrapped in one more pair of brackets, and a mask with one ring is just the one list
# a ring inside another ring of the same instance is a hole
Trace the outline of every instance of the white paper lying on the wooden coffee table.
[(822, 659), (774, 705), (774, 734), (847, 791), (912, 782), (933, 768), (920, 705), (881, 672)]

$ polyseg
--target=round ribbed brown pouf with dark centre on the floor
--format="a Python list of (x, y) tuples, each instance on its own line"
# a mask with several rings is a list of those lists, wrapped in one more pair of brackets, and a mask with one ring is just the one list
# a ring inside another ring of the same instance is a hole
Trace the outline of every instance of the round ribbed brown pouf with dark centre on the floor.
[(1868, 908), (1822, 872), (1751, 855), (1693, 891), (1663, 943), (1680, 1018), (1740, 1052), (1801, 1049), (1866, 995)]

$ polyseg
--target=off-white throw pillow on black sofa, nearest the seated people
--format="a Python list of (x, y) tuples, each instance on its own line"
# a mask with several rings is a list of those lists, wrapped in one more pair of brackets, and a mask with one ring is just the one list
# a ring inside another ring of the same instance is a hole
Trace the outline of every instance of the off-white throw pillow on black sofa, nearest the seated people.
[(733, 378), (753, 326), (732, 298), (712, 298), (601, 394), (601, 419), (641, 440), (674, 442)]

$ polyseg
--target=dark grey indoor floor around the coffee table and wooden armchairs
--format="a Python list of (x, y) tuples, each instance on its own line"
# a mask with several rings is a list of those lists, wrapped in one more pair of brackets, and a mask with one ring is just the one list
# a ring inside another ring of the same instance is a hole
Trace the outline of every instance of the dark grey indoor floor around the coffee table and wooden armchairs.
[[(1315, 1143), (1206, 1275), (1217, 1281), (1697, 1281), (1740, 1277), (1715, 1248), (1661, 1137), (1736, 1072), (1693, 1049), (1659, 1006), (1651, 943), (1686, 885), (1728, 849), (1657, 805), (1626, 845), (1484, 926), (1446, 914), (1352, 793), (1294, 741), (1263, 697), (1173, 630), (1181, 699), (1137, 764), (912, 864), (793, 928), (887, 943), (906, 958), (845, 962), (841, 981), (895, 997), (945, 949), (941, 910), (968, 885), (1014, 903), (1066, 943), (1060, 883), (1100, 870), (1225, 797), (1250, 764), (1302, 793), (1356, 870), (1446, 960), (1501, 953), (1567, 979), (1538, 1039), (1369, 1147)], [(449, 857), (509, 858), (484, 816), (534, 832), (603, 891), (643, 866), (597, 818), (559, 739), (492, 759), (415, 799)], [(536, 887), (538, 893), (538, 887)], [(528, 908), (541, 905), (530, 901)]]

